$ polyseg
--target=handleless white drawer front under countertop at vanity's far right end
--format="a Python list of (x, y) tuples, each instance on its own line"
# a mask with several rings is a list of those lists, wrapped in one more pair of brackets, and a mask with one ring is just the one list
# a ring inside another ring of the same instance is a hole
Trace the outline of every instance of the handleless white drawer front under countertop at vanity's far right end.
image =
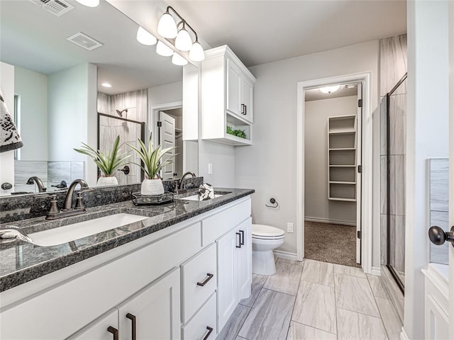
[(206, 246), (250, 217), (250, 198), (207, 217), (201, 222), (202, 246)]

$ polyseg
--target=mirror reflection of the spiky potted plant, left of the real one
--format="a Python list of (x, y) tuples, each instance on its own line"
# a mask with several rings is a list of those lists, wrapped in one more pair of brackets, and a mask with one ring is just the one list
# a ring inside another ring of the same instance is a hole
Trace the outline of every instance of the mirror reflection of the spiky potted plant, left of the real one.
[(120, 147), (120, 136), (117, 136), (112, 149), (106, 153), (101, 150), (95, 150), (85, 143), (82, 143), (80, 149), (74, 150), (93, 159), (99, 170), (101, 170), (102, 174), (98, 179), (97, 186), (116, 186), (118, 185), (118, 180), (114, 176), (114, 171), (128, 164), (127, 159), (131, 157), (131, 154), (127, 156), (118, 154)]

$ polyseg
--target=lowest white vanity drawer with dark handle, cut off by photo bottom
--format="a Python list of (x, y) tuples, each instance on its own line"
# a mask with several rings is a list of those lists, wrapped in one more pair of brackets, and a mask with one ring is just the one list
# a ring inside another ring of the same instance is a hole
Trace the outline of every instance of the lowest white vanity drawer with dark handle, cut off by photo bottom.
[(216, 294), (213, 294), (191, 321), (182, 327), (182, 334), (184, 340), (214, 340), (216, 333)]

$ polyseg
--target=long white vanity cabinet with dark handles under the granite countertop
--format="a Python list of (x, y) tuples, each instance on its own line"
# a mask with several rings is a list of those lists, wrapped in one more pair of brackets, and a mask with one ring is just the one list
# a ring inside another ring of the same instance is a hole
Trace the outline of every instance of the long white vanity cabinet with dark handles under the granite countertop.
[(250, 225), (240, 198), (6, 290), (0, 339), (214, 339), (230, 316), (218, 301), (250, 295)]

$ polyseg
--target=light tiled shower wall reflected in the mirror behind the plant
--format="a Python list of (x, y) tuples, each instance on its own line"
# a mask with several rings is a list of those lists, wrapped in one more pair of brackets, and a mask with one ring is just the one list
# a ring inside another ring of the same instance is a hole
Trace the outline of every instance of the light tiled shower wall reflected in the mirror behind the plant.
[[(106, 113), (111, 115), (112, 118), (101, 116), (99, 119), (99, 149), (111, 149), (116, 136), (120, 136), (121, 143), (127, 142), (136, 145), (138, 138), (140, 138), (141, 125), (137, 123), (130, 123), (124, 120), (115, 119), (119, 118), (116, 110), (123, 111), (128, 109), (128, 113), (123, 112), (122, 118), (128, 120), (135, 120), (138, 122), (147, 121), (147, 90), (138, 90), (128, 92), (126, 94), (116, 94), (108, 96), (106, 94), (98, 93), (98, 111), (99, 113)], [(128, 147), (123, 147), (124, 152), (131, 154), (130, 162), (140, 164), (140, 159)], [(129, 164), (131, 169), (128, 175), (123, 174), (121, 171), (116, 171), (116, 178), (119, 184), (129, 184), (140, 182), (140, 168), (135, 164)]]

